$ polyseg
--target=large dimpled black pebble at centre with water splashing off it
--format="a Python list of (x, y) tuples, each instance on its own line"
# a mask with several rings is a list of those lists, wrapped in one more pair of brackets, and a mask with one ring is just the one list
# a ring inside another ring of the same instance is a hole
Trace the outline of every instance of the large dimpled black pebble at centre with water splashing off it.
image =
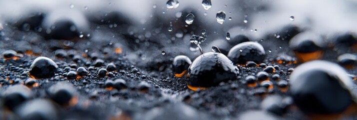
[(239, 69), (224, 54), (206, 52), (198, 56), (188, 68), (187, 84), (195, 87), (218, 85), (222, 81), (234, 80)]

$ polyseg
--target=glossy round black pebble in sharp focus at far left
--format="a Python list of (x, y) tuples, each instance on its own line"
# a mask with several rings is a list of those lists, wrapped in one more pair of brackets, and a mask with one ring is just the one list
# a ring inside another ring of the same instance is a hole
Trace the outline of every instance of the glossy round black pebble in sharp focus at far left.
[(57, 68), (57, 64), (52, 59), (39, 56), (33, 60), (28, 73), (35, 78), (49, 78), (54, 76)]

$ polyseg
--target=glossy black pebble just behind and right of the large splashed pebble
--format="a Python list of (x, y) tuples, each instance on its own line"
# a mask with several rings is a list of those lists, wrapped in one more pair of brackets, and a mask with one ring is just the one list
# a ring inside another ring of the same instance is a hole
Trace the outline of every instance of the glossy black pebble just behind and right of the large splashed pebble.
[(261, 44), (247, 41), (233, 46), (229, 50), (227, 57), (236, 64), (245, 64), (247, 61), (261, 63), (265, 55), (265, 50)]

